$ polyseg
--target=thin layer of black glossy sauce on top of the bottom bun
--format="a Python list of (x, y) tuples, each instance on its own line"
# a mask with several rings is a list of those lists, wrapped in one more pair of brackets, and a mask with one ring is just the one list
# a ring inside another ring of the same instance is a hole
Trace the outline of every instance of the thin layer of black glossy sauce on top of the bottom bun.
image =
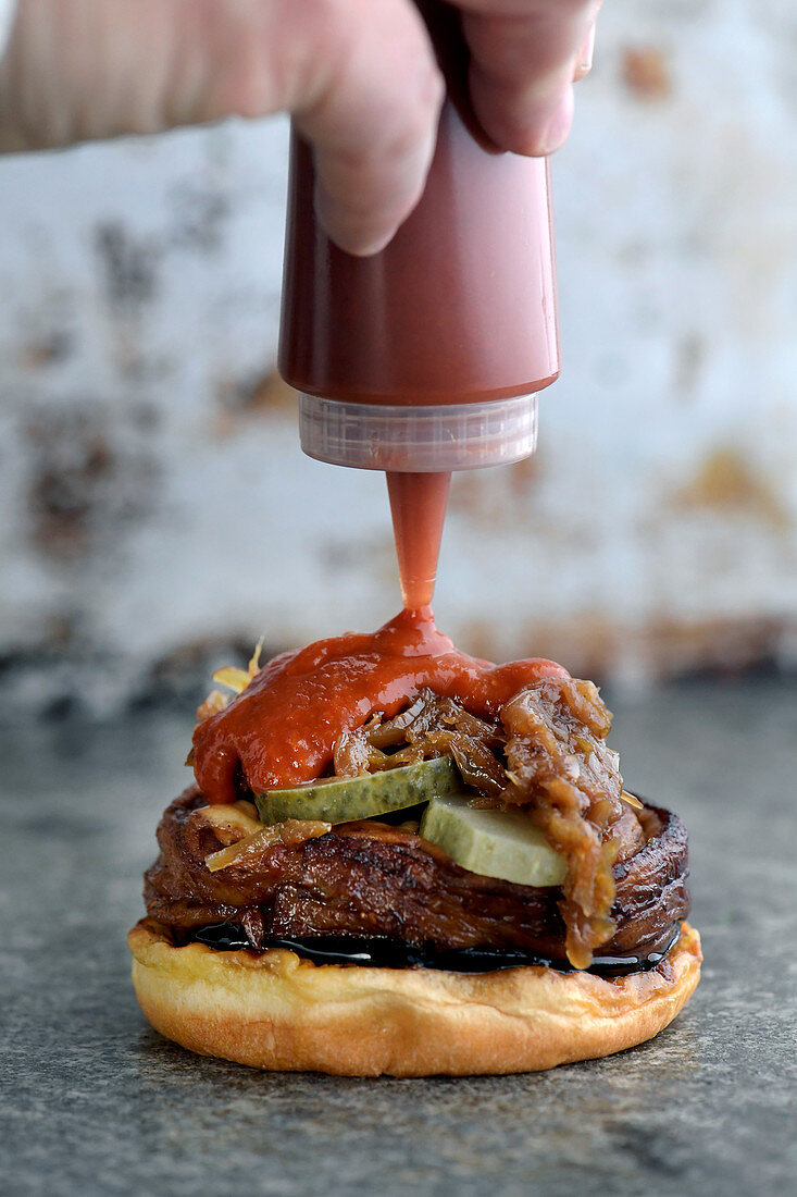
[[(647, 956), (595, 956), (592, 965), (583, 972), (596, 977), (627, 977), (632, 973), (649, 972), (667, 956), (675, 944), (680, 926), (675, 926), (667, 946)], [(205, 943), (217, 952), (238, 952), (242, 948), (251, 950), (247, 932), (237, 923), (214, 923), (195, 930), (190, 941)], [(527, 952), (522, 948), (458, 948), (438, 952), (433, 947), (415, 947), (402, 940), (359, 940), (342, 936), (314, 936), (312, 938), (290, 938), (268, 936), (261, 950), (286, 948), (296, 952), (304, 960), (316, 965), (361, 965), (369, 968), (437, 968), (444, 972), (482, 973), (501, 968), (522, 968), (528, 965), (542, 965), (556, 972), (572, 973), (567, 960), (550, 960), (547, 956)]]

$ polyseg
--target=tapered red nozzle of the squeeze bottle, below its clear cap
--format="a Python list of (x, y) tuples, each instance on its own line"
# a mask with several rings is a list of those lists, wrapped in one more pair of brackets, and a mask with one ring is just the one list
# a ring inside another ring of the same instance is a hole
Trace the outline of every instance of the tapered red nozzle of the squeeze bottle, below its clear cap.
[(450, 474), (388, 474), (401, 597), (409, 610), (428, 607), (434, 594)]

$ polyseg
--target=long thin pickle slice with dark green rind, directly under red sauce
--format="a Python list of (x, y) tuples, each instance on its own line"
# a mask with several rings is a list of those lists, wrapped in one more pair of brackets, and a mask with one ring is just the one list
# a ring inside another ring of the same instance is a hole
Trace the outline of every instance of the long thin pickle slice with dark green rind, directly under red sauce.
[(436, 757), (383, 773), (334, 777), (291, 790), (268, 790), (255, 795), (255, 806), (264, 824), (286, 819), (337, 824), (403, 810), (440, 794), (455, 794), (461, 788), (462, 779), (450, 757)]

